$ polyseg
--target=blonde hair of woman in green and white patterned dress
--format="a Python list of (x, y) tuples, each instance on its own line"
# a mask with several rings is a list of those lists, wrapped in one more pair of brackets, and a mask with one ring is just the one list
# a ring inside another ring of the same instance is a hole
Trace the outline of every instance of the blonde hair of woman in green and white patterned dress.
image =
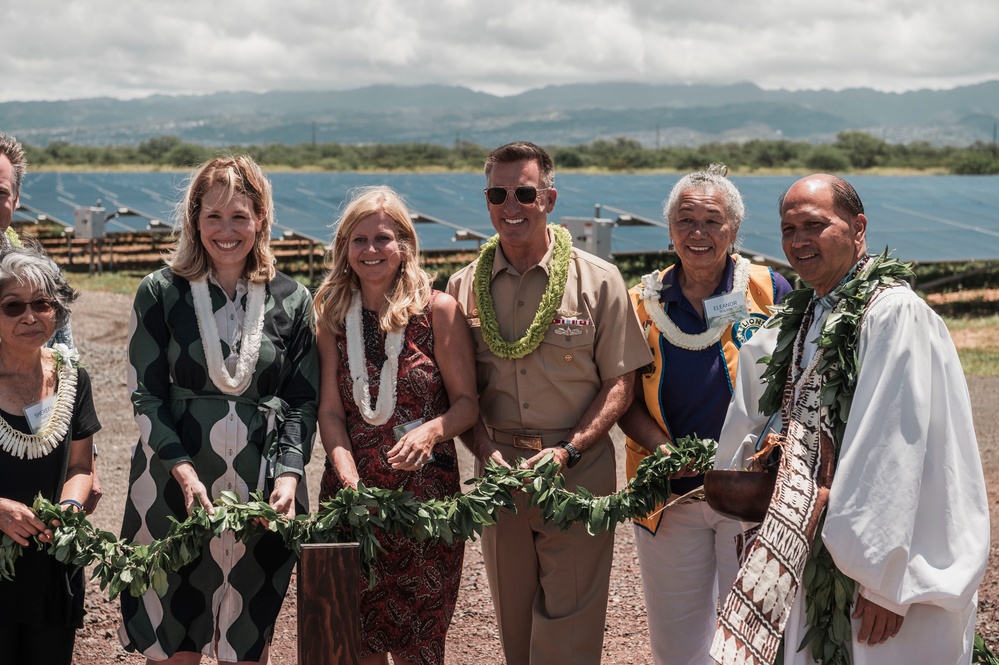
[(211, 256), (198, 233), (198, 216), (205, 194), (215, 185), (226, 189), (225, 203), (236, 194), (242, 194), (253, 205), (253, 212), (261, 219), (260, 232), (246, 257), (243, 276), (251, 282), (271, 281), (276, 272), (271, 252), (271, 227), (274, 225), (271, 183), (257, 163), (246, 155), (214, 157), (191, 174), (184, 197), (177, 205), (174, 223), (177, 248), (167, 257), (167, 265), (174, 274), (186, 279), (201, 279), (211, 270)]

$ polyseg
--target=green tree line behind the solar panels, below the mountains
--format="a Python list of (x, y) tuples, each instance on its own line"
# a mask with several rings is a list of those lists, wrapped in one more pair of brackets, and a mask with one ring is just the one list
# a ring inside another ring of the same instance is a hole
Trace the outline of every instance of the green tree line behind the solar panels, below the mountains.
[[(261, 165), (323, 171), (468, 171), (482, 168), (488, 148), (458, 141), (453, 146), (431, 143), (349, 145), (302, 143), (230, 146), (220, 149), (186, 143), (176, 136), (157, 136), (138, 145), (84, 146), (53, 142), (26, 145), (34, 166), (189, 168), (218, 152), (251, 155)], [(927, 141), (888, 143), (866, 132), (840, 132), (833, 143), (752, 140), (706, 143), (697, 147), (646, 148), (618, 138), (585, 145), (549, 146), (557, 167), (615, 172), (643, 170), (690, 171), (723, 162), (736, 171), (807, 169), (862, 171), (876, 168), (946, 170), (959, 175), (999, 174), (996, 147), (976, 142), (966, 147), (934, 146)]]

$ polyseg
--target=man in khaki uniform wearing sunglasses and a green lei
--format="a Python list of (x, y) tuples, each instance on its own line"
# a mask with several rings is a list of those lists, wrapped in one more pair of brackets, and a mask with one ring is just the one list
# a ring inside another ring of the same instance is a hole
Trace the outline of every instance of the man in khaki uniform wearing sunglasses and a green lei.
[[(531, 468), (554, 458), (566, 487), (616, 489), (608, 430), (650, 360), (621, 275), (548, 226), (555, 167), (526, 142), (486, 159), (498, 235), (451, 277), (448, 293), (475, 339), (481, 417), (463, 436), (478, 458)], [(508, 663), (600, 661), (614, 533), (545, 524), (527, 496), (482, 534), (489, 588)]]

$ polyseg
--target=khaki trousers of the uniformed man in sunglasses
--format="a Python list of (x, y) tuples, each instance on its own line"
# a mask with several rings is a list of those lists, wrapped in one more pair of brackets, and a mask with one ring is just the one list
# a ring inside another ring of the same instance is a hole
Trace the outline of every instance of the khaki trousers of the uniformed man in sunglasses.
[[(562, 470), (566, 489), (582, 486), (596, 496), (615, 491), (614, 448), (605, 439)], [(497, 447), (511, 463), (525, 452)], [(483, 530), (482, 554), (507, 663), (600, 662), (613, 531), (591, 536), (583, 524), (561, 531), (518, 493), (517, 514), (502, 511), (497, 525)]]

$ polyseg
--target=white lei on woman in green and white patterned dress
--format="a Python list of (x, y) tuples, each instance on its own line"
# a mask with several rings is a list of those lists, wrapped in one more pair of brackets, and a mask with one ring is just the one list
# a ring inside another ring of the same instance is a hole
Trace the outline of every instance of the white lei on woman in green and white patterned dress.
[(243, 328), (243, 341), (236, 354), (236, 374), (229, 375), (225, 361), (222, 359), (222, 338), (218, 326), (215, 325), (215, 312), (212, 310), (212, 297), (208, 292), (208, 283), (201, 279), (191, 280), (191, 295), (194, 298), (194, 314), (198, 319), (198, 332), (201, 333), (201, 345), (205, 350), (205, 361), (208, 364), (208, 376), (219, 390), (227, 395), (239, 395), (250, 385), (253, 370), (260, 356), (260, 338), (264, 330), (264, 300), (266, 289), (263, 284), (250, 282), (246, 294), (247, 326)]

